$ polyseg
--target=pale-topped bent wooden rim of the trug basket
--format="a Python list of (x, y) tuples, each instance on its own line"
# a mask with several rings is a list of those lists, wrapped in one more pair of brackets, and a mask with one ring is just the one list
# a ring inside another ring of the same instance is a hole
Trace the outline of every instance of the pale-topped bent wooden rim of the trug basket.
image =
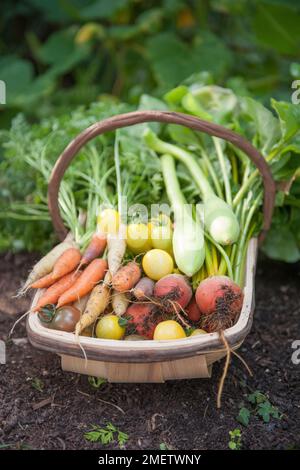
[[(225, 330), (231, 347), (238, 347), (249, 333), (254, 314), (254, 278), (257, 258), (257, 238), (252, 238), (247, 250), (244, 302), (238, 321)], [(32, 307), (41, 291), (33, 298)], [(73, 333), (50, 330), (42, 326), (35, 313), (27, 317), (27, 334), (33, 346), (57, 354), (83, 357), (82, 349)], [(80, 337), (87, 359), (106, 362), (158, 362), (182, 359), (198, 354), (224, 350), (218, 333), (208, 333), (195, 337), (168, 341), (117, 341), (99, 338)]]

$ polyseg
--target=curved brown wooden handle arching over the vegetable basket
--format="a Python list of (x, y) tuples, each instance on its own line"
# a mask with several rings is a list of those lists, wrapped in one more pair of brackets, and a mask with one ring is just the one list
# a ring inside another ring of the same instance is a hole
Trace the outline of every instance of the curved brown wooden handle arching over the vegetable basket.
[(51, 173), (48, 187), (48, 206), (50, 215), (52, 217), (53, 226), (58, 237), (63, 240), (68, 233), (68, 230), (64, 226), (59, 213), (59, 186), (66, 169), (78, 151), (87, 142), (92, 140), (94, 137), (103, 134), (104, 132), (114, 131), (121, 127), (133, 126), (134, 124), (153, 121), (165, 122), (168, 124), (180, 124), (182, 126), (189, 127), (190, 129), (219, 137), (221, 139), (227, 140), (228, 142), (231, 142), (233, 145), (245, 152), (246, 155), (248, 155), (248, 157), (260, 171), (264, 184), (264, 222), (262, 232), (260, 233), (260, 241), (262, 241), (266, 231), (270, 228), (275, 202), (275, 183), (269, 166), (263, 156), (246, 139), (223, 126), (220, 126), (219, 124), (203, 121), (202, 119), (190, 116), (188, 114), (175, 113), (171, 111), (135, 111), (126, 114), (119, 114), (117, 116), (104, 119), (103, 121), (96, 122), (78, 134), (78, 136), (69, 143), (69, 145), (65, 148), (63, 153), (56, 161), (56, 164)]

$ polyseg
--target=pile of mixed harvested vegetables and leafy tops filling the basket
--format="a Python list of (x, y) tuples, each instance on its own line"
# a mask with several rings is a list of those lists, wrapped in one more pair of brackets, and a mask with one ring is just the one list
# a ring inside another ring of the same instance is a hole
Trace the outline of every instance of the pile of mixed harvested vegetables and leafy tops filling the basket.
[[(250, 98), (197, 83), (152, 104), (253, 142), (281, 182), (283, 205), (299, 176), (295, 105), (273, 100), (275, 117)], [(237, 321), (263, 201), (260, 174), (240, 150), (181, 126), (142, 124), (95, 139), (70, 175), (59, 194), (70, 234), (21, 290), (46, 289), (34, 307), (45, 327), (76, 337), (174, 340)]]

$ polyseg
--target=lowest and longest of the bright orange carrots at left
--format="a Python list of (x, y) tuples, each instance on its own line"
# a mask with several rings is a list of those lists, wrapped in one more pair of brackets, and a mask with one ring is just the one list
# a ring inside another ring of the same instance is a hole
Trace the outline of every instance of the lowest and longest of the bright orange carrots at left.
[(90, 292), (104, 278), (106, 270), (106, 260), (94, 259), (85, 268), (75, 284), (59, 297), (57, 307), (75, 302)]

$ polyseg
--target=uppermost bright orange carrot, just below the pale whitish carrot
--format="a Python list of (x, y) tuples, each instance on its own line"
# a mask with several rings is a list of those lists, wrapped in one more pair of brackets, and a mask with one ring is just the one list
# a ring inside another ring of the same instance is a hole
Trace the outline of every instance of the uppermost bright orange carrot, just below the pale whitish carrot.
[(81, 254), (77, 248), (69, 248), (58, 258), (52, 272), (31, 284), (30, 287), (33, 289), (43, 289), (44, 287), (51, 286), (58, 279), (73, 271), (78, 266), (80, 258)]

